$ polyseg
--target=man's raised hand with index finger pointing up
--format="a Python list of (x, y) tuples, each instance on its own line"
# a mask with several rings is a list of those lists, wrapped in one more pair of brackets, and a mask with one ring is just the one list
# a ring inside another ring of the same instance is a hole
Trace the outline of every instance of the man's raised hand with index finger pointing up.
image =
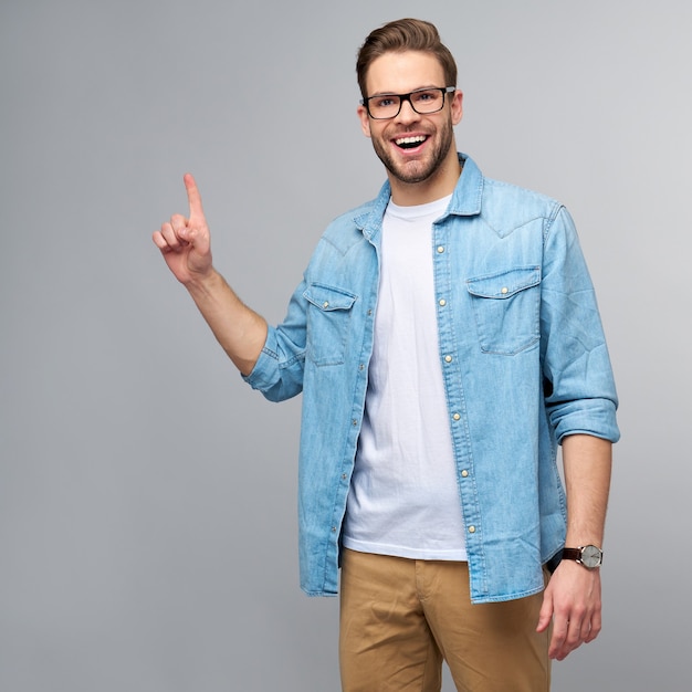
[(190, 207), (189, 217), (179, 213), (161, 224), (153, 235), (168, 269), (182, 284), (203, 279), (211, 272), (211, 245), (202, 198), (190, 174), (184, 176)]

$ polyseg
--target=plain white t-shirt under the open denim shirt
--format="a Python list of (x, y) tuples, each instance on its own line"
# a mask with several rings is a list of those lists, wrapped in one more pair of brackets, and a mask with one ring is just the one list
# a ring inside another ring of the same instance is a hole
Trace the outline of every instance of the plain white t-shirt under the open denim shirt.
[(465, 560), (438, 346), (432, 223), (450, 198), (385, 213), (375, 347), (344, 524), (347, 548)]

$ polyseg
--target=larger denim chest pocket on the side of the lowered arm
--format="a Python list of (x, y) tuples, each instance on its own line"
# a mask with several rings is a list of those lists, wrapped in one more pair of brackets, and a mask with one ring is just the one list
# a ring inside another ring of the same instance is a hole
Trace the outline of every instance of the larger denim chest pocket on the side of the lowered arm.
[(483, 353), (511, 356), (541, 336), (541, 268), (517, 268), (466, 281)]

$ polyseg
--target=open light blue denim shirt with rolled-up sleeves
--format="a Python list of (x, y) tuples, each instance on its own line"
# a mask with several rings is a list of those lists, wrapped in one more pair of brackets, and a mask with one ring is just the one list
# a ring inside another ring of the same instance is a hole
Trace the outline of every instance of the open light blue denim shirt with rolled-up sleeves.
[[(574, 433), (615, 442), (617, 396), (568, 212), (460, 158), (430, 252), (471, 597), (487, 602), (543, 589), (542, 565), (566, 531), (557, 445)], [(247, 378), (273, 401), (303, 392), (298, 531), (308, 595), (337, 593), (389, 198), (385, 184), (329, 224)]]

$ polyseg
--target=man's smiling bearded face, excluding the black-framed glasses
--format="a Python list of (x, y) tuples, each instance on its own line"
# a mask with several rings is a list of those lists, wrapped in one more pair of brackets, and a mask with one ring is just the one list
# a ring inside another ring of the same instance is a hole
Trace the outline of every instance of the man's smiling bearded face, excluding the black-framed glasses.
[[(420, 51), (385, 53), (373, 62), (367, 73), (368, 96), (407, 94), (431, 86), (454, 85), (444, 83), (437, 57)], [(445, 96), (443, 108), (437, 113), (421, 115), (405, 101), (399, 115), (391, 119), (373, 119), (365, 106), (358, 108), (358, 116), (364, 134), (373, 140), (389, 174), (401, 182), (417, 184), (434, 178), (452, 156), (457, 161), (453, 126), (461, 120), (461, 101), (458, 91)]]

